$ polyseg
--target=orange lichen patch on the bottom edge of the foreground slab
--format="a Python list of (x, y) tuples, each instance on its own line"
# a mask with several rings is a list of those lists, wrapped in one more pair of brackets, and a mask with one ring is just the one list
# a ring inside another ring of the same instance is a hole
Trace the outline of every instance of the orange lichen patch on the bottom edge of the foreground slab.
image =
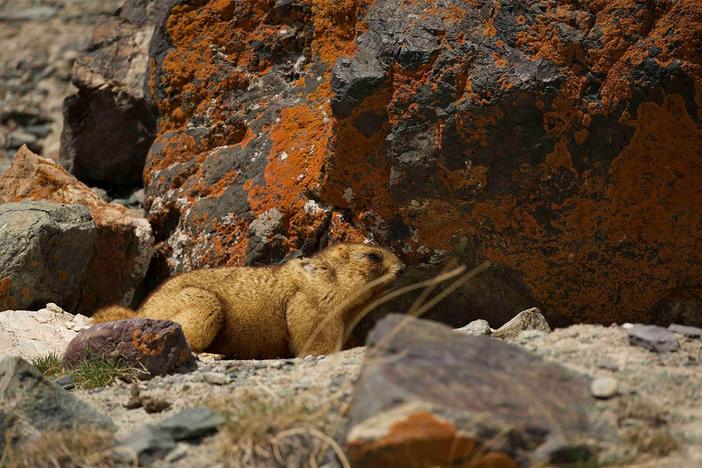
[(358, 466), (481, 466), (516, 468), (504, 453), (480, 452), (470, 436), (448, 421), (418, 411), (395, 422), (375, 440), (350, 441), (351, 458)]

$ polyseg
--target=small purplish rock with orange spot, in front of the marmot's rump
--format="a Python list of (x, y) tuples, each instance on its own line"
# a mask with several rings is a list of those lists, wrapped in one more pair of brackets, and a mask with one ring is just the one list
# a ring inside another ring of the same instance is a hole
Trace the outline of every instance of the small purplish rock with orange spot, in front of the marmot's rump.
[(83, 330), (68, 344), (64, 367), (75, 367), (88, 353), (121, 357), (128, 364), (143, 366), (151, 376), (168, 374), (193, 362), (180, 325), (167, 320), (135, 318)]

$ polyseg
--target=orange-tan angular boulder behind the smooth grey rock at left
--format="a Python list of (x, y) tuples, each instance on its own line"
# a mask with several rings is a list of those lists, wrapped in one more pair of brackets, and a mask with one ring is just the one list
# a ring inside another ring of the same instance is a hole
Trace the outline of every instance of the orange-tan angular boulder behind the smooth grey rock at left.
[(21, 148), (12, 166), (0, 176), (0, 203), (37, 199), (85, 205), (97, 226), (95, 249), (84, 257), (90, 263), (80, 303), (70, 312), (89, 315), (103, 305), (128, 305), (152, 255), (148, 221), (123, 206), (104, 202), (57, 163)]

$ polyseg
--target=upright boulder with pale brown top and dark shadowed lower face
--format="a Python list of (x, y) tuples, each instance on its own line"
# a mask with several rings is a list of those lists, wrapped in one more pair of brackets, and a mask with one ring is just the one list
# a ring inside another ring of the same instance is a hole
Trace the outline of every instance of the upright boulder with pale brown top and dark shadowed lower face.
[(79, 180), (142, 185), (156, 119), (144, 99), (148, 45), (162, 2), (130, 0), (103, 18), (75, 62), (78, 92), (64, 101), (61, 163)]

